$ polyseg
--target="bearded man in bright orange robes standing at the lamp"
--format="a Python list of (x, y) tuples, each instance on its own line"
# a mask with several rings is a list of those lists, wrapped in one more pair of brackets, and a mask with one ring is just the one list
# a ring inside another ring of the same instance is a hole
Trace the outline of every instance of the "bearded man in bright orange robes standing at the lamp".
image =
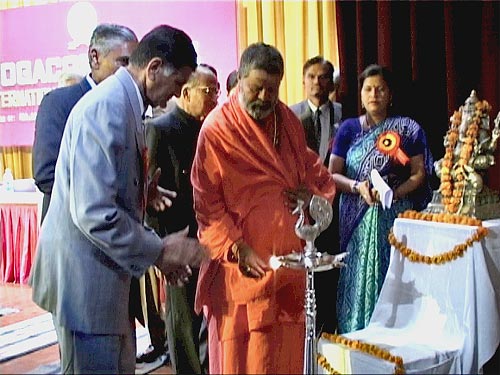
[(292, 211), (312, 194), (331, 202), (335, 185), (278, 99), (283, 65), (276, 48), (249, 46), (235, 95), (198, 140), (191, 181), (211, 261), (200, 269), (196, 308), (209, 321), (210, 373), (303, 371), (305, 272), (272, 270), (269, 259), (302, 251)]

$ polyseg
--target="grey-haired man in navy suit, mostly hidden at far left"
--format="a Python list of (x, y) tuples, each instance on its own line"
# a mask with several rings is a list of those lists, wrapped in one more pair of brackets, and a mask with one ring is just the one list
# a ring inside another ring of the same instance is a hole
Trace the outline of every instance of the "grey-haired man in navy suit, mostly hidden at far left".
[(43, 192), (42, 221), (49, 207), (57, 155), (71, 109), (92, 87), (128, 64), (137, 42), (134, 32), (126, 26), (98, 25), (89, 43), (90, 73), (80, 83), (54, 89), (42, 99), (35, 121), (32, 158), (35, 183)]

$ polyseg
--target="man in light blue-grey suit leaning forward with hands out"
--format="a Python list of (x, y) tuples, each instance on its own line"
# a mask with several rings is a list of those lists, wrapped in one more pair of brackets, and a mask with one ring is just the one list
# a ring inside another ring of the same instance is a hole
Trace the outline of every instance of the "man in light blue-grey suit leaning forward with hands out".
[(189, 36), (158, 26), (68, 117), (30, 278), (33, 300), (52, 314), (63, 373), (133, 374), (132, 278), (154, 264), (182, 283), (207, 258), (187, 231), (161, 238), (144, 224), (146, 207), (170, 202), (159, 174), (147, 178), (142, 115), (180, 95), (195, 67)]

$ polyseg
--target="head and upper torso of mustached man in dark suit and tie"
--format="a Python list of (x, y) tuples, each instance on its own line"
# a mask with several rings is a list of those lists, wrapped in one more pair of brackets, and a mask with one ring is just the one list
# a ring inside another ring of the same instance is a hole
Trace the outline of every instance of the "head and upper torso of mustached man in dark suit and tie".
[[(307, 99), (290, 106), (302, 122), (306, 133), (307, 146), (316, 151), (328, 166), (330, 149), (342, 118), (342, 105), (331, 102), (328, 95), (333, 87), (334, 68), (322, 56), (307, 60), (302, 69), (302, 83)], [(321, 126), (315, 124), (316, 110), (320, 110)]]

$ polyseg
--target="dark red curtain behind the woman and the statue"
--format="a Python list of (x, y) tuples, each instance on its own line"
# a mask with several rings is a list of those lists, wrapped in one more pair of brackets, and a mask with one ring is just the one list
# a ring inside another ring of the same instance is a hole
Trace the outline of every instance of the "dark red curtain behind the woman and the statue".
[[(476, 90), (499, 111), (499, 8), (497, 1), (338, 1), (341, 86), (346, 117), (361, 105), (358, 74), (369, 64), (395, 76), (398, 112), (425, 129), (436, 160), (444, 155), (449, 117)], [(499, 145), (500, 147), (500, 145)], [(489, 187), (500, 189), (500, 150)]]

